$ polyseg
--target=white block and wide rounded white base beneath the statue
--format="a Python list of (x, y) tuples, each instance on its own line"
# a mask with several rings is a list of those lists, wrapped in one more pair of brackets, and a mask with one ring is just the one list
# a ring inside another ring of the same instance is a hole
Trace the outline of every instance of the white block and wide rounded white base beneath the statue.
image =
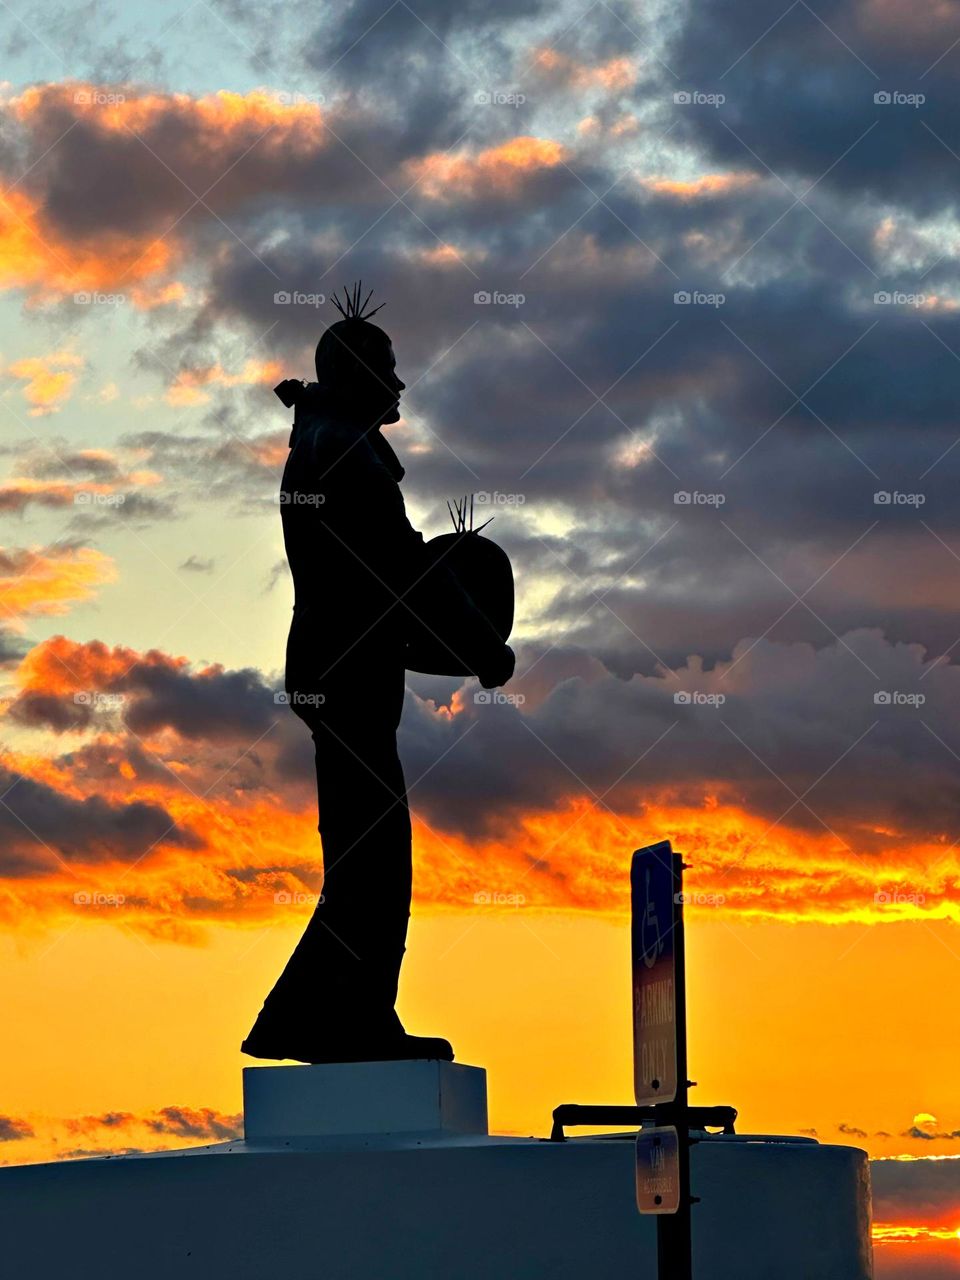
[[(657, 1280), (635, 1133), (490, 1137), (485, 1073), (449, 1062), (250, 1068), (244, 1094), (246, 1139), (0, 1169), (5, 1274)], [(870, 1280), (865, 1152), (712, 1135), (690, 1164), (696, 1280)]]

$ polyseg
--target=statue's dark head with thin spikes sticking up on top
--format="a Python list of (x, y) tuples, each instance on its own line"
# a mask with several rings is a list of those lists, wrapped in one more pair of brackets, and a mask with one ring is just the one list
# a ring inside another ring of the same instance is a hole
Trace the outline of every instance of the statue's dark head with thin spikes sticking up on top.
[(380, 307), (365, 316), (358, 285), (352, 296), (344, 289), (344, 296), (346, 306), (333, 300), (343, 319), (332, 324), (317, 343), (316, 380), (339, 412), (365, 428), (396, 422), (404, 384), (397, 376), (389, 334), (369, 319)]

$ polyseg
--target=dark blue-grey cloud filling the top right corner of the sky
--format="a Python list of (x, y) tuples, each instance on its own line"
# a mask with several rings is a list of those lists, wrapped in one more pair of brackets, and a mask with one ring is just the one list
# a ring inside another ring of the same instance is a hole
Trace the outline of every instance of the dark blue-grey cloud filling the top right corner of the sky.
[[(676, 87), (727, 100), (716, 110), (678, 106), (678, 132), (721, 164), (759, 157), (788, 182), (829, 169), (824, 182), (852, 198), (950, 209), (960, 186), (950, 154), (957, 37), (960, 15), (948, 5), (819, 0), (780, 12), (763, 0), (698, 0), (669, 49), (684, 82)], [(897, 92), (925, 101), (874, 101)]]

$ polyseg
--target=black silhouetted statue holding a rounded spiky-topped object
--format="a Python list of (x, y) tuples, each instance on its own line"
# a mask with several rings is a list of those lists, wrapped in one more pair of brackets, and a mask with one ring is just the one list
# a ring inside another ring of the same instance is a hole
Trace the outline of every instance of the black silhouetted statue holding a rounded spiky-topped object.
[[(486, 689), (509, 680), (512, 576), (462, 511), (445, 544), (410, 525), (403, 467), (380, 434), (399, 419), (404, 384), (389, 337), (364, 316), (369, 296), (360, 303), (355, 287), (344, 297), (316, 348), (317, 381), (276, 388), (296, 404), (280, 492), (296, 599), (285, 687), (316, 745), (324, 891), (242, 1050), (305, 1062), (452, 1060), (445, 1039), (408, 1036), (394, 1010), (411, 897), (397, 726), (407, 666), (470, 672)], [(486, 608), (451, 564), (474, 575)]]

